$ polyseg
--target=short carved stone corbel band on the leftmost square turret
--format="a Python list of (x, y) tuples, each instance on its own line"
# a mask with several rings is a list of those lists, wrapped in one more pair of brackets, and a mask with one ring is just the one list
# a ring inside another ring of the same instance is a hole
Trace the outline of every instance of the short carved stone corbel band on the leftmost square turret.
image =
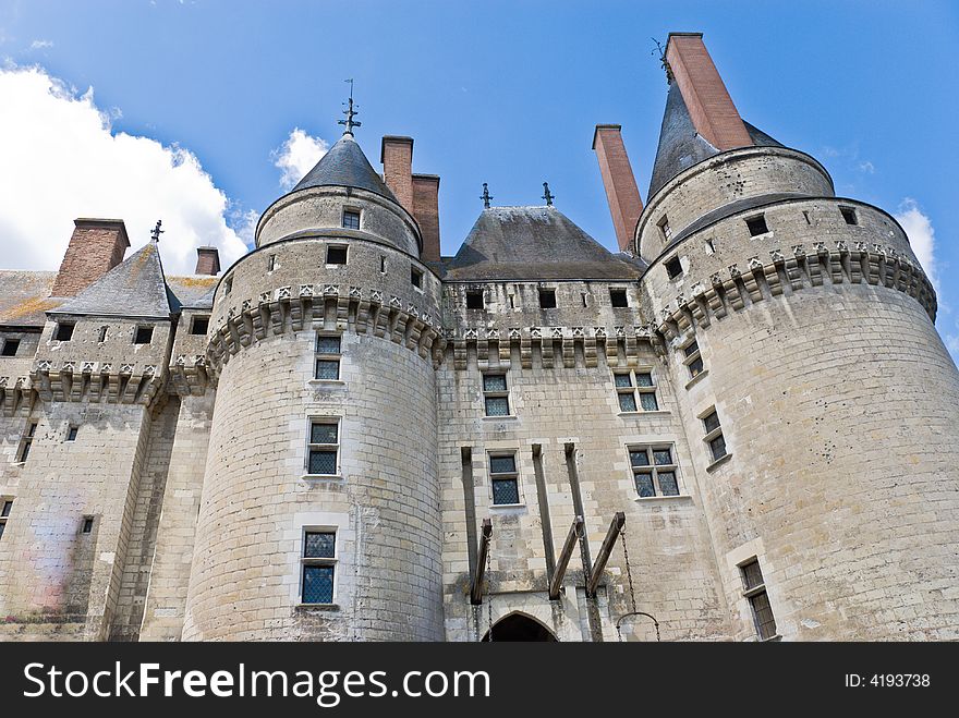
[(44, 401), (149, 404), (166, 377), (155, 364), (37, 360), (29, 379)]

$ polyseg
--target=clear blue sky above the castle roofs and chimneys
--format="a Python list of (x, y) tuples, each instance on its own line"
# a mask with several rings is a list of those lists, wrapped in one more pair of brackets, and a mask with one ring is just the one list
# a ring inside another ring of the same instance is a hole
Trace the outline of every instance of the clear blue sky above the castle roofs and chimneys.
[[(912, 210), (916, 231), (927, 222), (937, 324), (959, 355), (959, 3), (0, 2), (7, 71), (37, 65), (76, 96), (92, 87), (110, 133), (187, 151), (241, 236), (242, 218), (283, 192), (290, 133), (339, 136), (353, 77), (374, 165), (379, 138), (404, 134), (414, 170), (441, 175), (445, 254), (480, 212), (483, 182), (512, 205), (539, 204), (548, 180), (557, 207), (612, 247), (593, 126), (623, 125), (645, 198), (667, 89), (652, 38), (670, 31), (703, 32), (743, 118), (823, 161), (838, 194)], [(172, 212), (160, 199), (156, 214)]]

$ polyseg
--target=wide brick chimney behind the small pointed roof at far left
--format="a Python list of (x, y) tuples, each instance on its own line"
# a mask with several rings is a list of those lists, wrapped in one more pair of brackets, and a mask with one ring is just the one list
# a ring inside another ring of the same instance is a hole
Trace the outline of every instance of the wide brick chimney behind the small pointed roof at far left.
[(75, 296), (123, 261), (130, 246), (122, 219), (78, 218), (73, 224), (51, 296)]

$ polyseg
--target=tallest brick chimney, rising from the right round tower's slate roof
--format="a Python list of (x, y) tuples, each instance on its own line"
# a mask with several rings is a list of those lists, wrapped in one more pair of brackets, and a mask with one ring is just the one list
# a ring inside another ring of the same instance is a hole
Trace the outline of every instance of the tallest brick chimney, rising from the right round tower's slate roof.
[(670, 33), (666, 63), (670, 82), (679, 85), (696, 132), (706, 142), (719, 150), (752, 146), (702, 33)]

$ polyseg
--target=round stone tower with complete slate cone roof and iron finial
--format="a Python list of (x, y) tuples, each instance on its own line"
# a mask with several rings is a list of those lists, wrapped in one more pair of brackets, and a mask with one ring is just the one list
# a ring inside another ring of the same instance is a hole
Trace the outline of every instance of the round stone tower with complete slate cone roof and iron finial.
[(184, 640), (442, 637), (440, 284), (351, 129), (216, 289)]

